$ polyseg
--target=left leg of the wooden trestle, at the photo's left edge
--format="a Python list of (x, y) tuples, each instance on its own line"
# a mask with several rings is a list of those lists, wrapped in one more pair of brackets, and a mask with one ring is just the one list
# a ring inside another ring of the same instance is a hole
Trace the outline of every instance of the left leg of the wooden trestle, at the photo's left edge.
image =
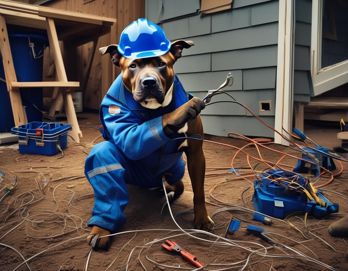
[(5, 71), (6, 86), (10, 95), (15, 125), (18, 126), (25, 124), (25, 115), (19, 89), (11, 87), (11, 83), (17, 82), (17, 77), (13, 65), (10, 43), (8, 41), (6, 22), (5, 18), (2, 16), (0, 16), (0, 28), (0, 52), (2, 56), (3, 69)]

